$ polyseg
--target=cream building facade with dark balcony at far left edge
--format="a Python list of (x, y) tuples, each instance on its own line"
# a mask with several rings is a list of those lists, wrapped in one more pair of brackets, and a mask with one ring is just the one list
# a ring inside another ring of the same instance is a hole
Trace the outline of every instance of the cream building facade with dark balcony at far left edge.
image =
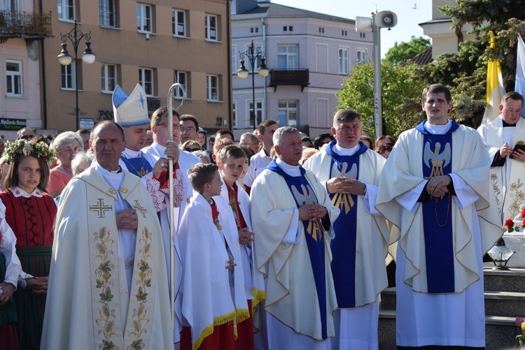
[(41, 45), (52, 34), (51, 14), (31, 0), (0, 1), (0, 136), (25, 126), (41, 129)]

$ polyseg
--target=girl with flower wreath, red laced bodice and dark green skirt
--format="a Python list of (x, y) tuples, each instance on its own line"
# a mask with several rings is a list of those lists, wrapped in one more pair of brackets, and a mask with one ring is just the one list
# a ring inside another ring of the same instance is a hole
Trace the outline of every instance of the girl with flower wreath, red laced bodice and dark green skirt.
[(18, 340), (20, 349), (38, 349), (57, 214), (55, 200), (44, 189), (48, 162), (55, 152), (45, 143), (20, 139), (6, 143), (5, 156), (10, 166), (4, 182), (7, 190), (0, 193), (0, 232), (14, 233), (22, 265), (22, 288), (14, 294)]

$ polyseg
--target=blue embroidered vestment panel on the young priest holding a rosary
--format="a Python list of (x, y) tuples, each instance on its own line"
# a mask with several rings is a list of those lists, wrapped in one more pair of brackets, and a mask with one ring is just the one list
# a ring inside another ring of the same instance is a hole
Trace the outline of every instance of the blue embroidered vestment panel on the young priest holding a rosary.
[[(416, 126), (423, 134), (423, 176), (434, 177), (452, 173), (452, 133), (459, 124), (442, 135), (433, 135), (425, 122)], [(442, 198), (423, 202), (423, 230), (425, 238), (426, 281), (428, 293), (454, 292), (454, 235), (452, 227), (452, 198), (448, 193)]]

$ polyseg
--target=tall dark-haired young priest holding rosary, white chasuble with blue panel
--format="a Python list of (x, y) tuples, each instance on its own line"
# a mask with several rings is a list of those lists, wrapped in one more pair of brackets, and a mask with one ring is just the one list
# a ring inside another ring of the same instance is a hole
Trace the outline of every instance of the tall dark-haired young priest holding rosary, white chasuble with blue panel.
[(447, 118), (447, 87), (428, 85), (421, 108), (426, 121), (399, 136), (377, 194), (399, 239), (397, 344), (481, 348), (482, 257), (503, 233), (491, 159), (474, 129)]

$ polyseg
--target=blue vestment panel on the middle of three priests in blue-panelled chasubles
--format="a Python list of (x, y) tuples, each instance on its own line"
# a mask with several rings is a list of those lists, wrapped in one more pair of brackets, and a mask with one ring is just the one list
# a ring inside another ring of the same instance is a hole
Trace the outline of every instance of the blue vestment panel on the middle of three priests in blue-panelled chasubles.
[[(332, 177), (359, 178), (359, 156), (367, 147), (359, 141), (359, 150), (344, 156), (332, 150), (336, 140), (326, 147), (326, 153), (332, 156), (330, 179)], [(332, 275), (335, 295), (339, 308), (356, 307), (356, 237), (357, 237), (357, 199), (355, 194), (330, 194), (332, 204), (341, 210), (333, 224), (337, 240), (332, 240)]]

